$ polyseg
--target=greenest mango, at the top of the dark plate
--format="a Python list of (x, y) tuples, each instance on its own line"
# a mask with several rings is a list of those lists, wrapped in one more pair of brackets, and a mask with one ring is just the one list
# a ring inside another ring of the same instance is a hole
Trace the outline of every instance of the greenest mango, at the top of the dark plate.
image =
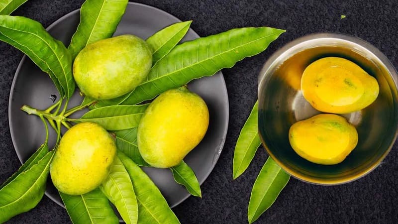
[(151, 66), (149, 45), (139, 37), (121, 35), (87, 45), (73, 63), (73, 77), (84, 95), (108, 100), (134, 90)]

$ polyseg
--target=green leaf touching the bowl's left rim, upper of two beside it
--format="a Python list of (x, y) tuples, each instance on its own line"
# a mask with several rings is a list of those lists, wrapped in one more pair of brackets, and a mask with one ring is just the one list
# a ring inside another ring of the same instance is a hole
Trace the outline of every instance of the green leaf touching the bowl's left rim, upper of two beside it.
[(233, 154), (233, 179), (238, 178), (249, 166), (257, 148), (261, 145), (258, 136), (258, 102), (253, 107), (252, 112), (247, 118), (245, 125), (240, 131), (238, 141), (236, 142), (235, 152)]

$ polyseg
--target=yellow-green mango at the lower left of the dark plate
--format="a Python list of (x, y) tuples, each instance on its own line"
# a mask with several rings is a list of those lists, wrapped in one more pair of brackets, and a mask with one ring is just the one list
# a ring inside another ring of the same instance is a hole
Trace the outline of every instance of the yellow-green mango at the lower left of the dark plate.
[(109, 175), (115, 154), (115, 141), (103, 127), (91, 122), (76, 124), (64, 134), (55, 151), (51, 180), (62, 193), (88, 193)]

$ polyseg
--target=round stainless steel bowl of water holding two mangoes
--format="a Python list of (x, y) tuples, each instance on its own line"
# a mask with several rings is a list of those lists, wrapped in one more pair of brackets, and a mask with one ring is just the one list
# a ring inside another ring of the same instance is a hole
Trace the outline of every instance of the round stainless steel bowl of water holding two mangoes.
[[(358, 130), (355, 149), (341, 163), (319, 165), (296, 154), (288, 132), (298, 120), (320, 112), (300, 91), (304, 69), (319, 58), (337, 56), (351, 60), (374, 76), (380, 86), (369, 107), (342, 114)], [(377, 167), (397, 138), (397, 71), (387, 57), (359, 38), (337, 33), (301, 37), (278, 50), (259, 75), (259, 134), (270, 156), (292, 176), (315, 184), (342, 184), (356, 180)]]

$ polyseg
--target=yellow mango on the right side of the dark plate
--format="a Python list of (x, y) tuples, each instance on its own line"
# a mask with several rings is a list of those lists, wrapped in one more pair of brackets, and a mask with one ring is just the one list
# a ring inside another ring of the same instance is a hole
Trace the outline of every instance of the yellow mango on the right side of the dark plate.
[(178, 165), (204, 137), (209, 112), (186, 87), (168, 90), (146, 109), (137, 131), (138, 149), (151, 166)]

